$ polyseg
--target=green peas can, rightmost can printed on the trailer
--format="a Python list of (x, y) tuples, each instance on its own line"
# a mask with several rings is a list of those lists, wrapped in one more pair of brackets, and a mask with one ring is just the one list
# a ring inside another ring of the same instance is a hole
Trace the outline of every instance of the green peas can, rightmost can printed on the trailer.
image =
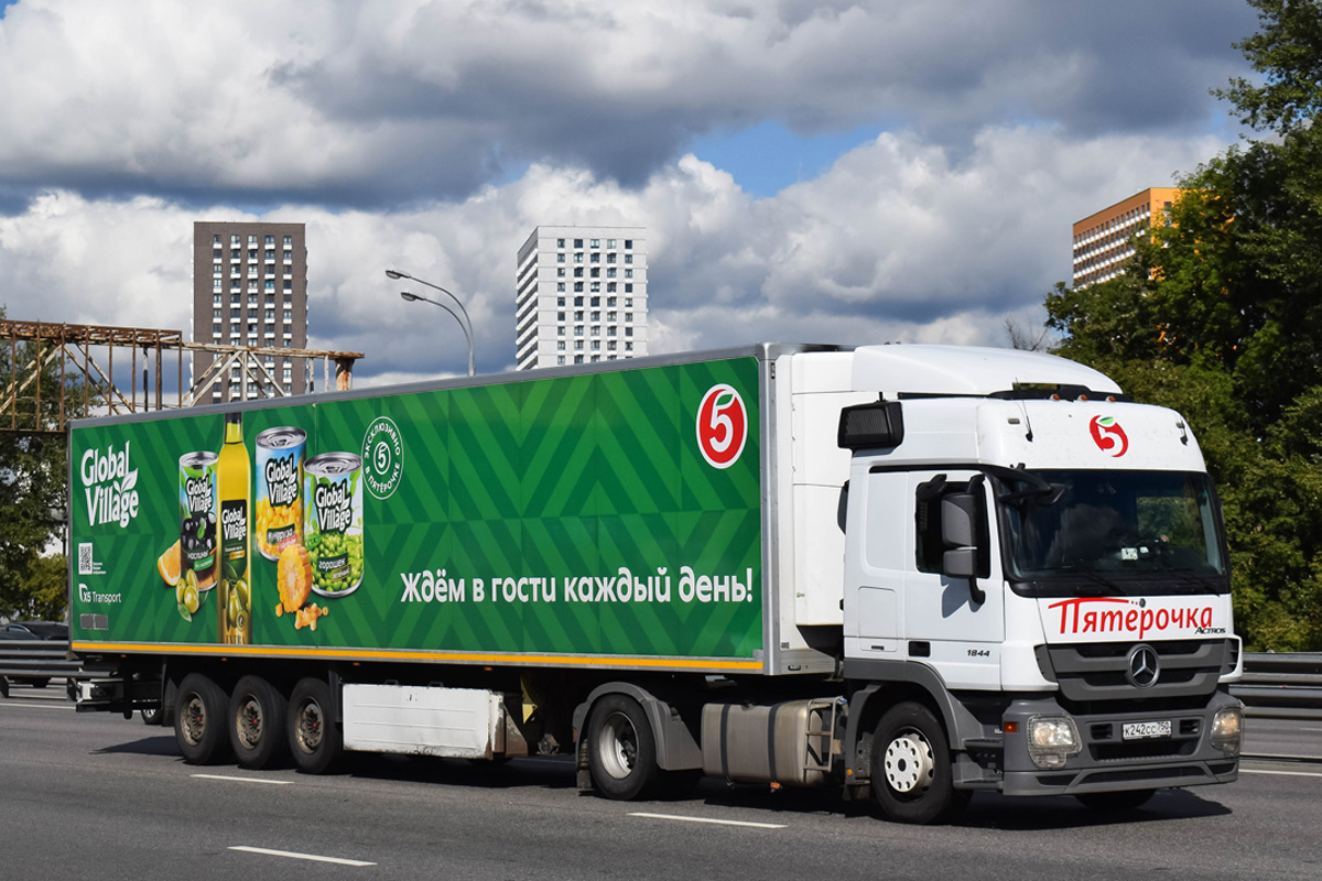
[(304, 462), (303, 474), (312, 589), (342, 597), (362, 584), (362, 457), (321, 453)]

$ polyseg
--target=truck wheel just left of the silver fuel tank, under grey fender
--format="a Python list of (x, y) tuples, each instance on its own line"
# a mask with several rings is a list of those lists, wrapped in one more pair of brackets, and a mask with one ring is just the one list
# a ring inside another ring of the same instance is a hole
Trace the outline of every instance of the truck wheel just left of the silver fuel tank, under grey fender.
[(639, 701), (607, 695), (587, 726), (592, 786), (607, 798), (632, 802), (652, 794), (660, 775), (656, 738)]

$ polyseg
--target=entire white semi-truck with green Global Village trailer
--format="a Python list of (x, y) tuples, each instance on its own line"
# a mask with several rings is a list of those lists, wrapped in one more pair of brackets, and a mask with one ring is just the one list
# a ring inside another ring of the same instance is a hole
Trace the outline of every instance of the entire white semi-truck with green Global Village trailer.
[(896, 822), (1239, 773), (1186, 421), (1047, 354), (759, 343), (75, 421), (78, 709), (190, 763), (574, 757)]

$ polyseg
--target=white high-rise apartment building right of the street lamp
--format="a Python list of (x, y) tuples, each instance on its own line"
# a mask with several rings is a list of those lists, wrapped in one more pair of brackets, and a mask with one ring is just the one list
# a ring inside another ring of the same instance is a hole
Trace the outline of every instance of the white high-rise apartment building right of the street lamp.
[(539, 226), (518, 250), (520, 370), (648, 354), (648, 251), (641, 226)]

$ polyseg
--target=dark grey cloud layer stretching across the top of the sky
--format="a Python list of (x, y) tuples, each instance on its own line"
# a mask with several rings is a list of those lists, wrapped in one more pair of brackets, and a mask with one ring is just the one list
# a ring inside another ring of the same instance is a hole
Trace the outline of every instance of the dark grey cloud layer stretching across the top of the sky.
[(1241, 0), (1059, 4), (22, 0), (0, 18), (0, 195), (424, 206), (529, 164), (649, 186), (697, 133), (1210, 124)]

